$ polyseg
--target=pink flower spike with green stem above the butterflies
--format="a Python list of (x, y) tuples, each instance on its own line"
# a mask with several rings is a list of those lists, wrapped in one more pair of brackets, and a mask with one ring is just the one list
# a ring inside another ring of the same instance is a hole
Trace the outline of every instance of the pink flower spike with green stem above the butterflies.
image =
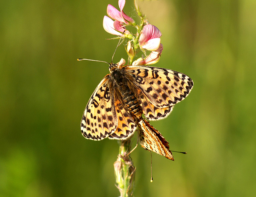
[[(118, 0), (120, 10), (108, 4), (108, 16), (104, 16), (103, 18), (104, 30), (110, 34), (129, 39), (125, 49), (128, 55), (129, 65), (150, 65), (157, 63), (163, 50), (163, 45), (161, 44), (160, 39), (162, 34), (160, 30), (147, 22), (146, 17), (140, 12), (136, 0), (134, 0), (137, 14), (141, 18), (140, 25), (137, 25), (131, 17), (124, 13), (123, 9), (125, 3), (125, 0)], [(137, 33), (130, 33), (126, 29), (127, 26), (136, 28)], [(134, 61), (139, 50), (144, 53), (146, 58), (139, 58)], [(151, 51), (151, 53), (147, 55), (147, 51)]]

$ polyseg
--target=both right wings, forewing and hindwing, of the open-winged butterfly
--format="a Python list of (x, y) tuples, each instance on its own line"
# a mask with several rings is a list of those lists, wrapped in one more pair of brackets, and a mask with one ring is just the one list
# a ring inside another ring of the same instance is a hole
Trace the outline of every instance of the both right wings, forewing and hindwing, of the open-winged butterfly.
[[(137, 98), (141, 99), (143, 113), (150, 120), (166, 117), (173, 105), (185, 99), (193, 88), (190, 77), (173, 70), (149, 66), (124, 66), (122, 69), (136, 86), (134, 90), (139, 90)], [(150, 110), (149, 106), (154, 109), (152, 105), (159, 111)]]

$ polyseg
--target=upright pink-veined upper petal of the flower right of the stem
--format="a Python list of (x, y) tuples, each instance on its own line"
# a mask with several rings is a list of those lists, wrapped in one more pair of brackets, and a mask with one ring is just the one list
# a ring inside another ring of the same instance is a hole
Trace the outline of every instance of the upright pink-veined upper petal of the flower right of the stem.
[(162, 36), (160, 30), (154, 25), (145, 25), (139, 38), (139, 44), (142, 45), (153, 38), (160, 38)]

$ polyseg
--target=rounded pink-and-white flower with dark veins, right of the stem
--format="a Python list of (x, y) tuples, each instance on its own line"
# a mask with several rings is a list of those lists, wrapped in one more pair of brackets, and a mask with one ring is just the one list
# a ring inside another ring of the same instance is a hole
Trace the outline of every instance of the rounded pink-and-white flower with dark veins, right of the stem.
[(145, 25), (139, 38), (139, 45), (142, 49), (156, 51), (160, 46), (160, 30), (154, 25)]

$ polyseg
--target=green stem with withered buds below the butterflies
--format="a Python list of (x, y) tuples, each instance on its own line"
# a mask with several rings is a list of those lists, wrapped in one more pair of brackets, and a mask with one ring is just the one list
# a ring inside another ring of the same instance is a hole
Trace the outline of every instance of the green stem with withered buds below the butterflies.
[(118, 141), (119, 155), (114, 163), (117, 188), (120, 197), (132, 197), (135, 182), (135, 170), (132, 158), (127, 155), (131, 150), (131, 140)]

